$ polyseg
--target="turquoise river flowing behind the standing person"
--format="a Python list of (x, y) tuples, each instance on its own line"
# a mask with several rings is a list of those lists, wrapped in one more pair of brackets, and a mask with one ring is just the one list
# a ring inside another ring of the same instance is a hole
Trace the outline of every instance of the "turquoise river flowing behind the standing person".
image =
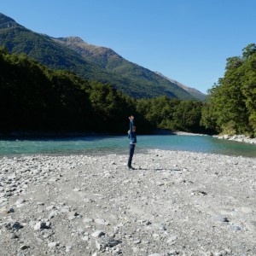
[[(138, 136), (137, 139), (137, 152), (145, 152), (145, 149), (159, 148), (256, 157), (256, 145), (220, 140), (207, 136)], [(0, 140), (0, 155), (127, 154), (128, 146), (129, 140), (126, 136), (2, 139)]]

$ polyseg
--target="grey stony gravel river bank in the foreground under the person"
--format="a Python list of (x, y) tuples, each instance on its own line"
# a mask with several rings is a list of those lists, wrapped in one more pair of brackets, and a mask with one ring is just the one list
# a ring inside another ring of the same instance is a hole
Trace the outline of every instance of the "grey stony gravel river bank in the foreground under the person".
[(256, 160), (149, 150), (3, 157), (1, 255), (255, 255)]

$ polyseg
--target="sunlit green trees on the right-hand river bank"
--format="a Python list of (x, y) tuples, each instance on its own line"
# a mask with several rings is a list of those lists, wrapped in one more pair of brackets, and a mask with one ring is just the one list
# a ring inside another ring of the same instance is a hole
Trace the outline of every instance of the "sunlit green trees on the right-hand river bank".
[(218, 133), (256, 136), (256, 45), (227, 59), (224, 78), (208, 91), (201, 125)]

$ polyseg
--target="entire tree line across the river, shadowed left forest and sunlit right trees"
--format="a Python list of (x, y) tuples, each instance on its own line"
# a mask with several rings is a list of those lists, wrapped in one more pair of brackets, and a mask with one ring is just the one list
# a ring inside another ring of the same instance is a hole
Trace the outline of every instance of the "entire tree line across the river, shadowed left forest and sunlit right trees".
[(207, 102), (160, 96), (136, 99), (110, 84), (52, 70), (26, 55), (0, 49), (1, 133), (11, 131), (125, 133), (137, 117), (138, 133), (156, 129), (256, 136), (256, 46), (227, 59), (224, 78)]

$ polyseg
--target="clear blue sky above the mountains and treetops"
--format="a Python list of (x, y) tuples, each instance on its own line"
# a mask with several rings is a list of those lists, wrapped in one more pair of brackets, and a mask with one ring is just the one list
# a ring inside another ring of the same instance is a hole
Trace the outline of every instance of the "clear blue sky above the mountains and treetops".
[(34, 32), (111, 48), (203, 93), (227, 58), (256, 43), (255, 0), (8, 0), (0, 12)]

